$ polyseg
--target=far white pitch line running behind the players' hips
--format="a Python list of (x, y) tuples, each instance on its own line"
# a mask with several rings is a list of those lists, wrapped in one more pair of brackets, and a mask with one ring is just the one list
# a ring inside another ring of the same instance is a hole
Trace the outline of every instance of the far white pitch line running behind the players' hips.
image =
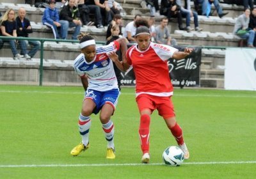
[[(61, 92), (61, 91), (7, 91), (0, 90), (0, 93), (38, 93), (38, 94), (79, 94), (83, 95), (83, 92)], [(134, 95), (135, 93), (122, 93), (121, 95)], [(201, 95), (201, 94), (175, 94), (177, 97), (229, 97), (229, 98), (256, 98), (256, 95)]]

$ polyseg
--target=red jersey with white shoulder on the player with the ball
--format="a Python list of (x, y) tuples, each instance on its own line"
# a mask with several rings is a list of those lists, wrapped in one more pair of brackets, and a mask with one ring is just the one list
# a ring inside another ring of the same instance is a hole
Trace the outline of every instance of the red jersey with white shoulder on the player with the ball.
[(126, 58), (134, 70), (136, 96), (143, 93), (158, 97), (172, 96), (167, 60), (172, 58), (175, 51), (178, 49), (152, 42), (146, 51), (140, 51), (137, 45), (128, 49)]

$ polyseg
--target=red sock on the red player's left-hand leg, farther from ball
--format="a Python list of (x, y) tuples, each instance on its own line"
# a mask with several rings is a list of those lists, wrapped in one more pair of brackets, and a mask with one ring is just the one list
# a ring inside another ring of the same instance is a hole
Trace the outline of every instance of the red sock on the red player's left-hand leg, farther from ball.
[(140, 144), (141, 150), (143, 153), (148, 153), (149, 151), (149, 125), (150, 125), (150, 116), (148, 114), (143, 114), (140, 117)]

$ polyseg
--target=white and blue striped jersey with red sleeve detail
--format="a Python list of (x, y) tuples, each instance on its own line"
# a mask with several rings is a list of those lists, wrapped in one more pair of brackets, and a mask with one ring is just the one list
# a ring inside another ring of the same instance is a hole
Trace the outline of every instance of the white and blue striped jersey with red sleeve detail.
[(114, 41), (109, 45), (96, 47), (96, 56), (88, 63), (84, 54), (81, 53), (74, 61), (76, 73), (83, 77), (88, 77), (88, 88), (97, 91), (108, 91), (118, 88), (113, 62), (108, 57), (109, 52), (118, 51), (120, 45)]

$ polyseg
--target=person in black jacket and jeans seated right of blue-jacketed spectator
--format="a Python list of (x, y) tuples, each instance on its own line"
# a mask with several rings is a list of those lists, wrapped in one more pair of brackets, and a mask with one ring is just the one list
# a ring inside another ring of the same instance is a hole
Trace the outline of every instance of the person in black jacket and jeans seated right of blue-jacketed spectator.
[(68, 5), (63, 6), (60, 12), (60, 19), (65, 20), (65, 22), (68, 23), (68, 27), (75, 27), (74, 33), (72, 34), (72, 40), (77, 39), (77, 35), (79, 35), (82, 25), (79, 10), (75, 4), (76, 0), (69, 0)]

